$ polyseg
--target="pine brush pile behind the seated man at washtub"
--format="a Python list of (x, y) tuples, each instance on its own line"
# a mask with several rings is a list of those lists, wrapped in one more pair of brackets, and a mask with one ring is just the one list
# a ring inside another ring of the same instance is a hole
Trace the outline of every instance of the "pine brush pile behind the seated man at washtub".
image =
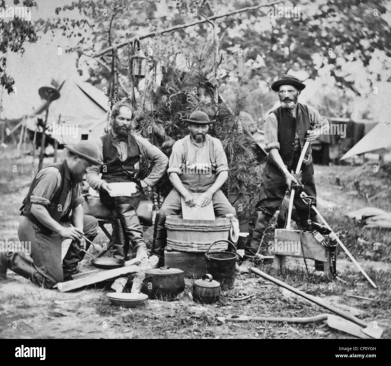
[[(244, 98), (238, 97), (233, 112), (219, 100), (216, 113), (213, 86), (206, 73), (201, 68), (191, 70), (179, 71), (173, 66), (163, 70), (160, 88), (156, 93), (151, 89), (149, 91), (151, 111), (143, 111), (136, 129), (170, 157), (175, 141), (189, 134), (188, 124), (182, 118), (188, 118), (194, 111), (206, 112), (210, 120), (216, 120), (210, 125), (209, 134), (222, 142), (228, 159), (230, 171), (222, 187), (224, 193), (235, 196), (255, 194), (257, 197), (262, 169), (254, 154), (255, 142), (249, 126), (244, 121), (243, 113), (240, 113), (244, 108)], [(168, 175), (154, 189), (159, 196), (167, 196), (172, 189)]]

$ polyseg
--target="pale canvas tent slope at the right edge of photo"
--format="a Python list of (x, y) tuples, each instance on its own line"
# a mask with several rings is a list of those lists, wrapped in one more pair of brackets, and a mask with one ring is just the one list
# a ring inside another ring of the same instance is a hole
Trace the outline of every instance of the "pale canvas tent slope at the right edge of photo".
[(354, 145), (342, 159), (348, 159), (354, 155), (372, 153), (387, 154), (391, 151), (391, 123), (379, 122), (356, 145)]

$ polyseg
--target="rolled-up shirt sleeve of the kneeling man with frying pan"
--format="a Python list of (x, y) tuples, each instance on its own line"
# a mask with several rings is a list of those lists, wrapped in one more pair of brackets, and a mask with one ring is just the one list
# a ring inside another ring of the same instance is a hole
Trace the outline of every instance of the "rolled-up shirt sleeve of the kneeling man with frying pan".
[(43, 168), (35, 178), (35, 187), (31, 193), (32, 204), (48, 206), (57, 189), (61, 186), (61, 174), (57, 168)]

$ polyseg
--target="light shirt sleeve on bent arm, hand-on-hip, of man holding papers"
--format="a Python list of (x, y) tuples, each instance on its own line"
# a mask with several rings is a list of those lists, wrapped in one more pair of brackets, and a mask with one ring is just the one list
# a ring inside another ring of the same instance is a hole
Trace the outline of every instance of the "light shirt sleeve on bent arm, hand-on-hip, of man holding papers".
[(163, 177), (169, 159), (158, 147), (152, 145), (147, 139), (138, 135), (134, 135), (134, 137), (140, 148), (141, 155), (151, 160), (154, 164), (151, 173), (144, 179), (144, 182), (148, 184), (149, 187), (153, 187), (158, 180)]

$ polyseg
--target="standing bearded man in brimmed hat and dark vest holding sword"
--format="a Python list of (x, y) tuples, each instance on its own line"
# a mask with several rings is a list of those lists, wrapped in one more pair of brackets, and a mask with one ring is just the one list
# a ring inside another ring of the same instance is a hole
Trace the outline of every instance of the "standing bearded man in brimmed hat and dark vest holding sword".
[[(240, 272), (248, 272), (264, 231), (280, 207), (287, 188), (291, 189), (292, 182), (298, 184), (290, 172), (296, 171), (305, 141), (312, 142), (316, 139), (317, 135), (312, 128), (328, 125), (326, 118), (314, 108), (298, 103), (298, 96), (304, 88), (305, 84), (291, 75), (283, 75), (271, 86), (273, 91), (278, 92), (281, 106), (270, 112), (265, 121), (265, 144), (269, 155), (262, 173), (260, 200), (249, 224), (245, 261), (240, 266)], [(316, 197), (310, 146), (301, 166), (301, 184), (308, 196)], [(298, 212), (300, 225), (308, 227), (308, 205), (300, 198), (298, 191), (294, 195), (293, 204)], [(310, 218), (312, 222), (319, 222), (313, 209)]]

